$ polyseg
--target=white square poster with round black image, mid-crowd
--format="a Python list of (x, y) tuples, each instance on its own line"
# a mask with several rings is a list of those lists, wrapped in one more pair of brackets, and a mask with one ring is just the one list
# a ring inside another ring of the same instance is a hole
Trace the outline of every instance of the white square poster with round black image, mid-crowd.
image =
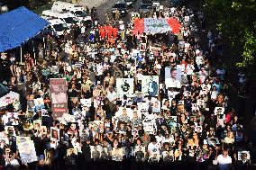
[(118, 98), (133, 97), (133, 78), (116, 78), (116, 94)]

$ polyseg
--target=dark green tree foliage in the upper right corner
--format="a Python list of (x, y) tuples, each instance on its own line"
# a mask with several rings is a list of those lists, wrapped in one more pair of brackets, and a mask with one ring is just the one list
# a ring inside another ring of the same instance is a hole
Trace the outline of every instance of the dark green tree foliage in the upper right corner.
[(241, 56), (236, 66), (255, 69), (256, 0), (205, 0), (204, 10), (215, 14), (217, 29)]

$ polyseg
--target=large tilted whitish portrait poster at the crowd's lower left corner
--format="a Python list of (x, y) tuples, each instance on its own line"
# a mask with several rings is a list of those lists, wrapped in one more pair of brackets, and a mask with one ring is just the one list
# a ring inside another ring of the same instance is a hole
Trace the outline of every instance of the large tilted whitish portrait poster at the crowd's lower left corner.
[(32, 140), (17, 144), (23, 164), (37, 161), (37, 156)]

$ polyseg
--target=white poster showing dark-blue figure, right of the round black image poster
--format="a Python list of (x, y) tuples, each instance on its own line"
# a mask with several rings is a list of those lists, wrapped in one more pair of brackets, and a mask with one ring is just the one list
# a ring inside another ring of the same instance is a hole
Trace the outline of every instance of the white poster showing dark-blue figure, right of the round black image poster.
[(159, 76), (142, 76), (142, 94), (149, 96), (159, 94)]

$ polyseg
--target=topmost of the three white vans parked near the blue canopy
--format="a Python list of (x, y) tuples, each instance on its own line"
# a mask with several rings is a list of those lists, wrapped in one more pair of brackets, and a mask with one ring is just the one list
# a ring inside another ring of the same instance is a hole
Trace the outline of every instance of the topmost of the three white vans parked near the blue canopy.
[(57, 1), (52, 4), (51, 10), (72, 13), (78, 18), (80, 22), (91, 20), (91, 16), (86, 13), (85, 8), (80, 4), (71, 4)]

